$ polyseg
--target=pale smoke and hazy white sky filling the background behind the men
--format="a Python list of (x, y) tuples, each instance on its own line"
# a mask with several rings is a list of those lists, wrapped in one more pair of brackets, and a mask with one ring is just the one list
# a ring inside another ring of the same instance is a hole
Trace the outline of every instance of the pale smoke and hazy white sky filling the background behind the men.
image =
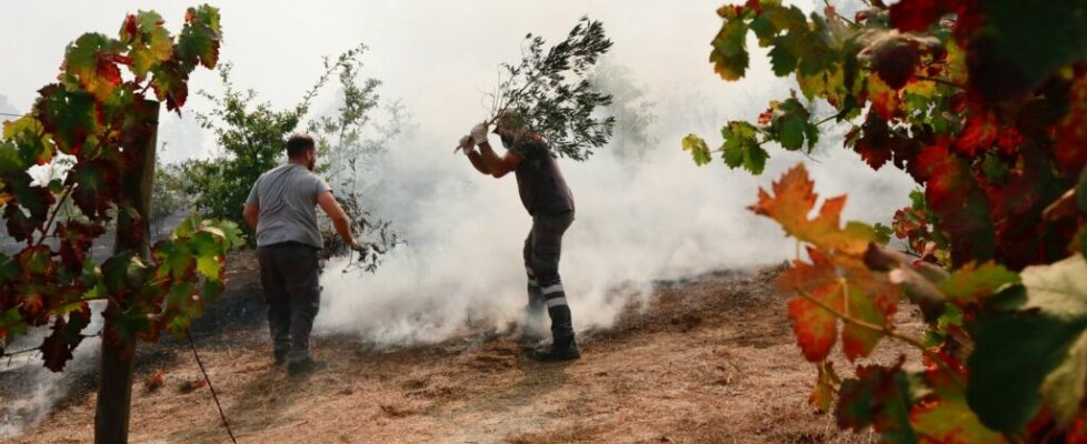
[[(64, 46), (80, 33), (113, 33), (126, 13), (152, 8), (177, 31), (190, 3), (4, 2), (0, 112), (28, 110), (37, 89), (54, 79)], [(635, 99), (642, 115), (652, 119), (635, 127), (644, 130), (638, 138), (617, 134), (616, 143), (588, 162), (560, 161), (577, 202), (560, 271), (579, 330), (609, 325), (625, 304), (648, 294), (654, 280), (790, 258), (792, 241), (745, 206), (755, 201), (758, 186), (768, 186), (797, 162), (808, 164), (821, 195), (849, 193), (847, 219), (887, 222), (907, 203), (911, 181), (897, 170), (855, 168), (860, 160), (841, 148), (840, 129), (821, 140), (812, 159), (771, 148), (767, 171), (757, 178), (719, 161), (697, 168), (680, 150), (680, 139), (690, 132), (720, 142), (724, 122), (755, 119), (769, 100), (795, 88), (792, 80), (772, 75), (754, 40), (746, 80), (724, 82), (714, 73), (709, 42), (720, 27), (715, 13), (720, 3), (220, 2), (221, 60), (233, 63), (233, 81), (242, 89), (257, 91), (273, 107), (292, 107), (322, 71), (322, 56), (365, 42), (370, 49), (363, 74), (381, 80), (382, 98), (400, 100), (411, 115), (411, 124), (377, 160), (379, 178), (373, 180), (379, 185), (368, 196), (372, 210), (391, 220), (408, 244), (376, 274), (341, 273), (342, 261), (329, 263), (318, 333), (402, 345), (440, 341), (469, 323), (501, 326), (516, 320), (526, 297), (521, 245), (531, 221), (512, 175), (482, 176), (451, 148), (485, 118), (482, 95), (493, 89), (500, 62), (519, 60), (525, 34), (555, 42), (585, 14), (601, 20), (615, 41), (607, 58), (612, 73), (601, 75), (599, 87), (617, 94), (632, 88), (640, 93)], [(796, 4), (811, 11), (822, 2)], [(216, 75), (195, 73), (190, 90), (200, 89), (218, 92)], [(177, 162), (213, 152), (213, 137), (193, 119), (195, 111), (208, 107), (191, 94), (181, 117), (163, 114), (162, 159)], [(335, 94), (326, 93), (315, 110), (335, 107)], [(72, 367), (93, 366), (93, 345), (83, 344)], [(41, 373), (42, 386), (62, 386), (58, 376)], [(44, 391), (26, 402), (46, 412), (56, 397)], [(0, 417), (0, 437), (18, 433), (28, 417)]]

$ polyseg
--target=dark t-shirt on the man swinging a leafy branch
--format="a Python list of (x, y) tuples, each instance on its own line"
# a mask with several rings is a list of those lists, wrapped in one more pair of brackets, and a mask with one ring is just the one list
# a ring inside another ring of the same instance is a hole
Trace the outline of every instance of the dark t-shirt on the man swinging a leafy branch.
[(517, 192), (529, 214), (555, 215), (574, 211), (574, 193), (547, 142), (530, 135), (515, 141), (509, 151), (521, 158), (513, 173)]

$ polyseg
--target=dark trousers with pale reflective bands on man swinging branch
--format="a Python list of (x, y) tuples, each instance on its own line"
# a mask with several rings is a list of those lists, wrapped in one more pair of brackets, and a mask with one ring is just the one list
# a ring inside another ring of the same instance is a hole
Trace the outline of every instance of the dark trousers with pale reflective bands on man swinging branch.
[(551, 339), (556, 344), (574, 341), (574, 320), (559, 278), (562, 234), (574, 223), (574, 212), (538, 214), (525, 240), (525, 269), (528, 273), (528, 329), (542, 323), (544, 310), (551, 317)]

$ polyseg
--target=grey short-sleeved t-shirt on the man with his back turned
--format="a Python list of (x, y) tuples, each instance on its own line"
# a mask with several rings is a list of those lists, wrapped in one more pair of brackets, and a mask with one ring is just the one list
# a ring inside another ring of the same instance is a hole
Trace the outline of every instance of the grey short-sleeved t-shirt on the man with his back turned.
[(257, 179), (246, 203), (260, 206), (257, 246), (298, 242), (321, 249), (317, 196), (332, 190), (302, 165), (276, 167)]

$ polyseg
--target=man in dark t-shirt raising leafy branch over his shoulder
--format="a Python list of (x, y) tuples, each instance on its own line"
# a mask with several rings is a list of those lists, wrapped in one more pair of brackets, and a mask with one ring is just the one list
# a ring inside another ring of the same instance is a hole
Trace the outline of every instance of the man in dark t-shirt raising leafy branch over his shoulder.
[[(574, 194), (559, 171), (547, 142), (527, 130), (521, 115), (503, 112), (495, 133), (506, 154), (499, 157), (487, 141), (487, 125), (478, 124), (460, 147), (472, 167), (482, 174), (501, 178), (512, 171), (525, 210), (532, 216), (532, 229), (525, 240), (525, 270), (528, 274), (526, 339), (538, 336), (544, 310), (551, 317), (551, 346), (529, 356), (538, 361), (570, 361), (581, 356), (574, 337), (574, 322), (566, 291), (559, 278), (562, 234), (574, 223)], [(479, 145), (476, 151), (475, 145)]]

